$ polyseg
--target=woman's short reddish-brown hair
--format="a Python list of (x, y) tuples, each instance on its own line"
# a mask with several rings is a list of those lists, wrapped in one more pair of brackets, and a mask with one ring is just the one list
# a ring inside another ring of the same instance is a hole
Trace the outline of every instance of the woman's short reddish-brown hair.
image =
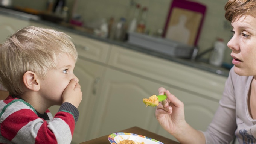
[(256, 0), (229, 0), (225, 9), (225, 18), (232, 22), (236, 18), (240, 18), (242, 15), (252, 15), (255, 12)]

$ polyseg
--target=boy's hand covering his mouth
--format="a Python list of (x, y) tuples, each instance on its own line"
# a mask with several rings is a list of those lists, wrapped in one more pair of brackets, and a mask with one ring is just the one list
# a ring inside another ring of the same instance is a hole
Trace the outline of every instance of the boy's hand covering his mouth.
[(72, 79), (62, 94), (63, 103), (68, 102), (78, 108), (82, 100), (82, 95), (81, 86), (79, 85), (78, 80)]

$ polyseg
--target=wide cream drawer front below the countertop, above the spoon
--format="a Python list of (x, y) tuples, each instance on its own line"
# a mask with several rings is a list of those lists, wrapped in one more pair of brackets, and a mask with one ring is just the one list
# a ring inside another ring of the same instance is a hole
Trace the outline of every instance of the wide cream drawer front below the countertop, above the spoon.
[(227, 77), (113, 45), (109, 65), (218, 101)]

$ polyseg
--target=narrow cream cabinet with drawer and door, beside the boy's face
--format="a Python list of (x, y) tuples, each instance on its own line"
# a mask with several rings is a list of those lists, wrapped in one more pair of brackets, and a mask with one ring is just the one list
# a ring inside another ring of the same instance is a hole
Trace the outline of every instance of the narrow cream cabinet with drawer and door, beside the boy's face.
[(94, 128), (94, 106), (97, 105), (98, 93), (101, 89), (101, 81), (106, 71), (106, 62), (110, 45), (83, 36), (65, 32), (74, 39), (79, 59), (76, 63), (74, 74), (79, 79), (82, 101), (78, 107), (79, 120), (76, 123), (72, 143), (80, 143), (91, 139), (89, 134)]

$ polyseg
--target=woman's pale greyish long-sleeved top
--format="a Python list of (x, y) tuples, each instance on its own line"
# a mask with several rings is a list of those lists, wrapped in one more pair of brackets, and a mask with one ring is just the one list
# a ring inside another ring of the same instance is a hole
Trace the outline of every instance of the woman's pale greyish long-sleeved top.
[(206, 132), (206, 144), (229, 144), (236, 136), (240, 144), (256, 143), (256, 120), (248, 110), (248, 93), (253, 76), (230, 70), (222, 99)]

